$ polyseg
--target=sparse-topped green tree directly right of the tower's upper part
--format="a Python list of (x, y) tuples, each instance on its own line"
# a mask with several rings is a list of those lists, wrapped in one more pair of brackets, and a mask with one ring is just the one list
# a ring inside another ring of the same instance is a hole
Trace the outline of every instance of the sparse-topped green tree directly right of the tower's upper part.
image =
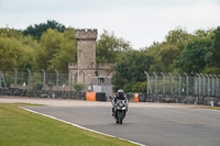
[(97, 63), (116, 63), (118, 56), (131, 49), (130, 43), (123, 38), (117, 38), (113, 33), (107, 31), (97, 41)]

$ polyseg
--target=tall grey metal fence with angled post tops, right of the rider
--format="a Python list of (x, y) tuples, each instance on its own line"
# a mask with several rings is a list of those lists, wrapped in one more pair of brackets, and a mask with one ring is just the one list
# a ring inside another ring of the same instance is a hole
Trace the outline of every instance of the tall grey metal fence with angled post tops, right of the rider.
[(220, 75), (145, 74), (147, 94), (220, 97)]

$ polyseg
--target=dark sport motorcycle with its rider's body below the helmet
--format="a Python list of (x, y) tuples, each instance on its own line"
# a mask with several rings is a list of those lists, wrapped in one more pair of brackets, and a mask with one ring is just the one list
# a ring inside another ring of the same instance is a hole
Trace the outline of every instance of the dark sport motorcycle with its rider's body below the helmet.
[(128, 111), (128, 100), (117, 100), (116, 103), (112, 100), (112, 105), (116, 123), (122, 124)]

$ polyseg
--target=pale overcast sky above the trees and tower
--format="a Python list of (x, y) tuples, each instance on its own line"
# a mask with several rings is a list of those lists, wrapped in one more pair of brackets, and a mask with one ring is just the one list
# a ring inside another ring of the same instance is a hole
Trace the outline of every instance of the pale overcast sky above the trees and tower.
[(0, 27), (24, 30), (55, 20), (75, 29), (114, 32), (133, 48), (163, 42), (177, 26), (220, 26), (220, 0), (0, 0)]

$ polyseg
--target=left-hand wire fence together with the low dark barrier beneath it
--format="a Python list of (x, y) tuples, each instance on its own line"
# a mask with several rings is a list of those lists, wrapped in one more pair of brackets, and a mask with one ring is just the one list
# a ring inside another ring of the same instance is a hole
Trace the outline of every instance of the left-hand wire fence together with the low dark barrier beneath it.
[[(73, 85), (76, 83), (74, 75), (41, 72), (1, 71), (0, 70), (0, 96), (21, 96), (41, 98), (74, 98), (85, 99), (84, 92), (76, 92)], [(38, 88), (37, 88), (38, 87)]]

